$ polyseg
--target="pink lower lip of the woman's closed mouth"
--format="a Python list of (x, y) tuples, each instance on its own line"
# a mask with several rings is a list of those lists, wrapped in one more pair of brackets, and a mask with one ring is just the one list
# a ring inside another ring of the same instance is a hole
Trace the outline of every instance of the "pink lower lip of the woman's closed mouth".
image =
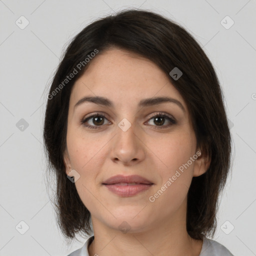
[(139, 192), (147, 190), (152, 184), (133, 184), (133, 185), (119, 185), (119, 184), (104, 184), (111, 192), (120, 196), (132, 196)]

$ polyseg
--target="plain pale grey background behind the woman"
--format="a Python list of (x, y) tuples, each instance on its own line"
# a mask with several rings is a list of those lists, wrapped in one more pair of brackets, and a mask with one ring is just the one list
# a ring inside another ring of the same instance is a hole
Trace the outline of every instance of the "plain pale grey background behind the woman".
[[(77, 32), (131, 6), (179, 22), (212, 61), (234, 141), (232, 174), (213, 239), (234, 255), (256, 255), (255, 0), (0, 0), (0, 255), (66, 255), (83, 244), (65, 244), (49, 201), (42, 147), (44, 90), (63, 46)], [(21, 15), (29, 22), (23, 29)], [(234, 21), (228, 29), (232, 21), (223, 19), (226, 15)], [(24, 234), (22, 220), (29, 226)]]

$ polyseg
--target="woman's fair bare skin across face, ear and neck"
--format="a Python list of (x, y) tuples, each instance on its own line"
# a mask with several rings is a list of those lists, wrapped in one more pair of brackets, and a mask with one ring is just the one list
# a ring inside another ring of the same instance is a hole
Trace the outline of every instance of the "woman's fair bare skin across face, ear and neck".
[[(74, 107), (84, 96), (106, 97), (113, 107), (93, 102)], [(138, 106), (141, 99), (156, 96), (174, 98), (184, 110), (173, 102)], [(158, 124), (152, 116), (159, 112), (175, 118), (176, 123), (164, 117)], [(86, 124), (98, 128), (80, 123), (96, 113), (104, 113), (102, 124), (95, 118)], [(126, 131), (118, 126), (123, 118), (131, 124)], [(66, 173), (70, 175), (71, 169), (79, 173), (75, 187), (91, 213), (94, 240), (88, 247), (90, 256), (200, 254), (202, 241), (186, 231), (187, 191), (192, 177), (207, 170), (209, 159), (201, 154), (158, 198), (148, 199), (200, 151), (185, 102), (157, 65), (118, 48), (94, 57), (73, 85), (66, 140)], [(116, 174), (138, 174), (154, 184), (134, 196), (121, 197), (102, 185)], [(123, 221), (130, 228), (127, 232), (118, 227)]]

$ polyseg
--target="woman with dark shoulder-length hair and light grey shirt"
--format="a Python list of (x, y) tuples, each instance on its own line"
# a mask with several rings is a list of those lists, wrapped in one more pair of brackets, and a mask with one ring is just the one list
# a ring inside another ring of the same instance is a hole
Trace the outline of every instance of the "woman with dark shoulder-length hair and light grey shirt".
[(206, 237), (230, 167), (223, 96), (182, 27), (123, 10), (86, 26), (54, 75), (44, 120), (69, 255), (232, 255)]

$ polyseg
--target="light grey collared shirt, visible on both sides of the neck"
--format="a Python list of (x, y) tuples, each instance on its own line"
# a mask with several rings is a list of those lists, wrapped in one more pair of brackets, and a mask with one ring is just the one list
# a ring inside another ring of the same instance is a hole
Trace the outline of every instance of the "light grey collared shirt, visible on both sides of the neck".
[[(94, 235), (87, 238), (83, 246), (67, 256), (89, 256), (88, 245), (94, 239)], [(225, 246), (212, 239), (203, 238), (199, 256), (234, 256)]]

